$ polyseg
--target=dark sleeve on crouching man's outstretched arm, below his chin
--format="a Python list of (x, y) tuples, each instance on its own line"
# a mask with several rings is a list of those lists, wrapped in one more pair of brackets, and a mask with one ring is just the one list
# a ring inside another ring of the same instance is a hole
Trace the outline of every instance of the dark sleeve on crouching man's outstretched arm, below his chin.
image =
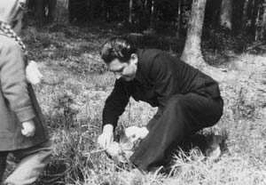
[(113, 92), (106, 99), (106, 105), (103, 110), (103, 126), (107, 124), (117, 126), (117, 121), (124, 112), (129, 102), (129, 92), (122, 84), (121, 79), (116, 80)]

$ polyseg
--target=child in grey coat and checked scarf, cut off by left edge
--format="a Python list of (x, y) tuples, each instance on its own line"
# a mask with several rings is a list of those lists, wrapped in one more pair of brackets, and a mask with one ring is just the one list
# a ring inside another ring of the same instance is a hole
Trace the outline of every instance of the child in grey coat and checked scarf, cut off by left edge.
[(31, 184), (51, 156), (51, 141), (42, 111), (26, 75), (26, 48), (20, 32), (26, 0), (0, 1), (0, 184), (6, 157), (19, 159), (9, 185)]

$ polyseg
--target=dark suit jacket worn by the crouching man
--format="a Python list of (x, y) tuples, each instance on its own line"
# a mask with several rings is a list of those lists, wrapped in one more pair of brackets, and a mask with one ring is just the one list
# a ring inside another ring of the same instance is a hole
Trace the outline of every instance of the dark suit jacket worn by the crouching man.
[(134, 80), (115, 81), (103, 110), (103, 125), (117, 125), (130, 96), (135, 101), (145, 101), (159, 107), (155, 117), (160, 116), (169, 98), (177, 93), (198, 93), (210, 99), (221, 99), (219, 86), (214, 79), (167, 52), (138, 50), (137, 57)]

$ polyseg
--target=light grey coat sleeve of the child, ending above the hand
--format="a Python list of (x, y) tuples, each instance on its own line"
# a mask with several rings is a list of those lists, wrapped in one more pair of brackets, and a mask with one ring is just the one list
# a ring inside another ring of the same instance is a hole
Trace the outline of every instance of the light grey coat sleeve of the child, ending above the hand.
[(5, 42), (0, 47), (1, 91), (20, 122), (28, 121), (35, 114), (27, 91), (26, 58), (20, 46), (14, 42)]

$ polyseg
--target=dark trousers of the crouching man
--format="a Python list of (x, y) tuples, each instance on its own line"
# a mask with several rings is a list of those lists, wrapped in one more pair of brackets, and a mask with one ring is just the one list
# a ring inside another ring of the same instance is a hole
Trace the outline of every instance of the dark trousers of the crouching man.
[(164, 165), (166, 151), (186, 136), (215, 125), (223, 115), (223, 100), (213, 100), (196, 93), (176, 94), (149, 125), (149, 133), (129, 158), (140, 171), (149, 172)]

